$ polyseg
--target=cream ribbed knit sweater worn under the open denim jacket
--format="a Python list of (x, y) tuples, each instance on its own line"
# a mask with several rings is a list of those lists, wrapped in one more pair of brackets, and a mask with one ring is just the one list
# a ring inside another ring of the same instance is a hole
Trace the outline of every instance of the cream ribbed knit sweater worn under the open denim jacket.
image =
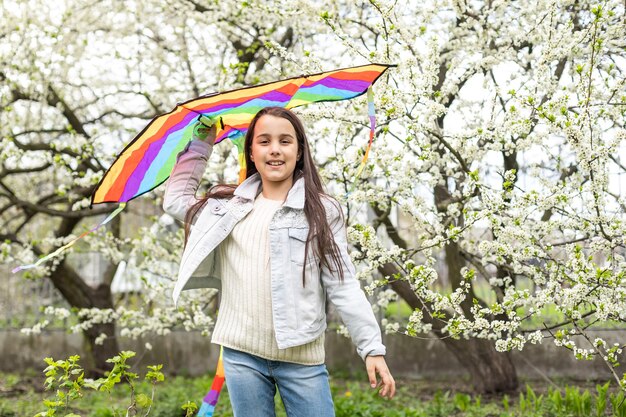
[(265, 359), (324, 363), (324, 334), (302, 346), (278, 349), (272, 320), (269, 224), (282, 201), (259, 194), (254, 208), (216, 249), (222, 299), (211, 341)]

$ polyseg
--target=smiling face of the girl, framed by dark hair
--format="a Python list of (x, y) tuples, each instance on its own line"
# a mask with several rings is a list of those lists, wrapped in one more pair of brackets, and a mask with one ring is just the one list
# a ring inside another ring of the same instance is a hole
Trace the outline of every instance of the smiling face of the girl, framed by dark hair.
[(298, 158), (298, 139), (291, 122), (269, 114), (261, 116), (254, 126), (250, 159), (263, 183), (292, 181)]

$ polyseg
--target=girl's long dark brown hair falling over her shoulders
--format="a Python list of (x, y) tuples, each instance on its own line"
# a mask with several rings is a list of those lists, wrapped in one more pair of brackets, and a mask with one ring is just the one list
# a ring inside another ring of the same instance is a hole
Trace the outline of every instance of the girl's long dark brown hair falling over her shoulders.
[[(244, 155), (246, 158), (246, 178), (250, 178), (257, 173), (254, 162), (250, 159), (252, 153), (252, 139), (254, 138), (254, 128), (261, 116), (275, 116), (287, 119), (296, 131), (296, 139), (298, 140), (298, 150), (301, 158), (296, 162), (293, 171), (293, 183), (304, 178), (304, 214), (309, 223), (309, 234), (307, 236), (304, 252), (304, 266), (302, 267), (302, 285), (305, 285), (304, 268), (307, 264), (309, 244), (315, 239), (316, 245), (313, 248), (314, 255), (320, 259), (321, 266), (326, 266), (329, 270), (338, 272), (339, 280), (343, 281), (343, 262), (339, 252), (339, 247), (333, 238), (333, 233), (328, 221), (326, 220), (326, 209), (322, 203), (322, 198), (327, 198), (332, 204), (337, 206), (340, 213), (341, 221), (344, 221), (343, 212), (339, 204), (332, 197), (328, 196), (324, 191), (322, 180), (317, 172), (311, 151), (309, 141), (304, 132), (304, 126), (298, 116), (290, 110), (283, 107), (265, 107), (261, 109), (250, 122), (248, 131), (246, 132), (244, 143)], [(190, 225), (193, 218), (199, 213), (204, 204), (210, 198), (232, 198), (237, 185), (235, 184), (218, 184), (207, 192), (207, 194), (194, 204), (185, 216), (185, 244), (190, 233)], [(331, 267), (331, 260), (334, 266)]]

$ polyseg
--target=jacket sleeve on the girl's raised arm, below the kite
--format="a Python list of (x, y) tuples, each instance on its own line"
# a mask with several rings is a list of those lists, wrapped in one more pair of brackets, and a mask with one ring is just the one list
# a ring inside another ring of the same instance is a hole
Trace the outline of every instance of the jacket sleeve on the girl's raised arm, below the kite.
[(187, 211), (198, 202), (196, 191), (212, 151), (213, 145), (208, 142), (192, 140), (178, 154), (165, 186), (163, 210), (167, 214), (185, 221)]

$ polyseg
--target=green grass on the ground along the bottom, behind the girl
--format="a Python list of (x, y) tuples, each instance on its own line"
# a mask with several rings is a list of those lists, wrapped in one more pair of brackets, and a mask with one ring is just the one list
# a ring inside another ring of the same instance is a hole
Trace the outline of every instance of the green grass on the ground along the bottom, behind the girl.
[[(209, 375), (195, 378), (166, 377), (165, 382), (157, 386), (155, 405), (150, 416), (184, 416), (181, 406), (189, 400), (200, 403), (210, 383)], [(532, 383), (534, 390), (527, 386), (522, 387), (519, 393), (492, 396), (471, 395), (467, 391), (468, 387), (458, 380), (400, 379), (397, 384), (396, 397), (386, 400), (369, 387), (364, 376), (355, 379), (348, 378), (346, 374), (335, 373), (331, 377), (331, 390), (337, 417), (577, 416), (589, 415), (577, 414), (577, 410), (588, 412), (598, 402), (594, 383), (579, 383), (576, 386), (559, 384), (563, 387), (558, 390), (563, 394), (562, 400), (558, 400), (560, 394), (557, 396), (557, 391), (539, 381)], [(34, 416), (45, 410), (42, 401), (51, 398), (53, 393), (43, 391), (42, 386), (43, 377), (32, 372), (27, 375), (0, 374), (0, 417)], [(150, 386), (137, 383), (136, 391), (138, 394), (150, 395)], [(80, 416), (112, 417), (112, 409), (116, 409), (124, 415), (129, 398), (127, 385), (117, 386), (110, 396), (85, 391), (84, 397), (76, 400), (76, 406), (71, 411)], [(555, 405), (557, 402), (560, 408)], [(276, 403), (277, 416), (285, 417), (278, 396)], [(611, 404), (607, 401), (608, 414), (597, 414), (594, 410), (593, 415), (620, 415), (610, 414), (611, 410)], [(215, 415), (233, 415), (226, 388), (222, 391)]]

